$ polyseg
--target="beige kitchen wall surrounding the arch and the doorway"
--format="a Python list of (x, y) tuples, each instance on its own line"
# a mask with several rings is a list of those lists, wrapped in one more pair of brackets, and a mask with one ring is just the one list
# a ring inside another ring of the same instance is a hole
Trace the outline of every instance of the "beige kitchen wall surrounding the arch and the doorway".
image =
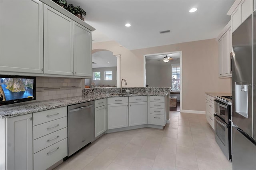
[(144, 55), (182, 51), (182, 109), (205, 111), (205, 92), (231, 92), (231, 79), (218, 78), (218, 44), (215, 39), (128, 50), (116, 42), (94, 43), (121, 55), (121, 78), (129, 87), (143, 86)]

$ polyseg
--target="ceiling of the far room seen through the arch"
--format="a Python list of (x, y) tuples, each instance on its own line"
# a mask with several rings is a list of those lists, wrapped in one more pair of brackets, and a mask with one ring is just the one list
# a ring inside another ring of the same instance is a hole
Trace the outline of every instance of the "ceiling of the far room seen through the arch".
[(92, 54), (92, 68), (116, 67), (116, 56), (111, 51), (98, 51)]

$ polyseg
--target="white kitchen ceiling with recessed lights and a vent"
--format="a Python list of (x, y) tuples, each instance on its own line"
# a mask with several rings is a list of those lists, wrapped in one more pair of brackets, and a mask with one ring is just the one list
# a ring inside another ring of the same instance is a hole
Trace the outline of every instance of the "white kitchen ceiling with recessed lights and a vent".
[[(68, 0), (96, 28), (94, 42), (114, 40), (132, 50), (216, 38), (234, 0)], [(198, 8), (194, 13), (190, 8)], [(129, 22), (130, 28), (124, 25)], [(160, 34), (160, 31), (171, 30)]]

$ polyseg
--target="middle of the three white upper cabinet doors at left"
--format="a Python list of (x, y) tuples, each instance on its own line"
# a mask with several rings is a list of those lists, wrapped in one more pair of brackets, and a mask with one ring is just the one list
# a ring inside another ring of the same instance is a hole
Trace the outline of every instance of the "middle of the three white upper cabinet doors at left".
[(73, 21), (44, 4), (44, 73), (73, 75)]

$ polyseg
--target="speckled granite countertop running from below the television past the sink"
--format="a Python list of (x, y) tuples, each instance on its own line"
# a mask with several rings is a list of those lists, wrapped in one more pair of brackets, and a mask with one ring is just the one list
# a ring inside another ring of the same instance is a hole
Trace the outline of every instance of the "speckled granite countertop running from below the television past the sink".
[(107, 97), (129, 97), (129, 96), (141, 96), (141, 95), (154, 95), (154, 96), (165, 96), (164, 93), (136, 93), (136, 94), (93, 94), (83, 95), (77, 97), (67, 97), (62, 99), (54, 99), (47, 101), (36, 101), (31, 103), (17, 103), (13, 105), (0, 106), (0, 118), (15, 117), (19, 115), (26, 115), (29, 113), (45, 111), (58, 107), (64, 107), (74, 105), (78, 103), (84, 103), (88, 101), (94, 101), (98, 99), (104, 99)]

